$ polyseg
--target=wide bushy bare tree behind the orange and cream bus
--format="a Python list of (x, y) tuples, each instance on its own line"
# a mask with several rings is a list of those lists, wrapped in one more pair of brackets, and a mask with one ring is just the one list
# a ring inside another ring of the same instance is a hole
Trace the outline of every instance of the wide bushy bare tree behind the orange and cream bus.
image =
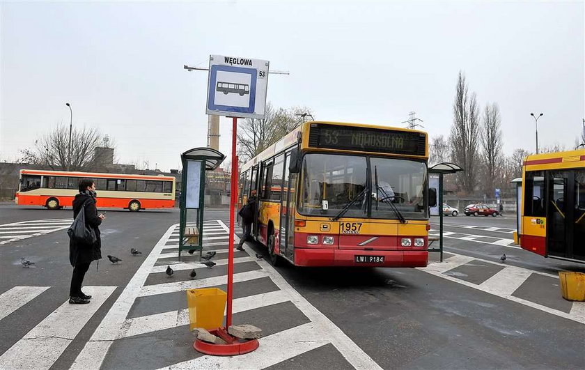
[(103, 142), (96, 128), (73, 128), (69, 146), (69, 129), (59, 125), (36, 140), (32, 148), (23, 149), (20, 162), (68, 171), (93, 169), (100, 165), (95, 162), (95, 148)]

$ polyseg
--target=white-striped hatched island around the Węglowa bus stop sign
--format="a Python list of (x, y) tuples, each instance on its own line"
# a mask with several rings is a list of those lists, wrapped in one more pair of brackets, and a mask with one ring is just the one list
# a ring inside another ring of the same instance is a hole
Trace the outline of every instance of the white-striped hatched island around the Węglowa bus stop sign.
[[(204, 251), (217, 252), (217, 265), (211, 269), (199, 265), (198, 255), (182, 255), (179, 261), (179, 229), (178, 225), (171, 226), (114, 302), (72, 369), (263, 369), (327, 344), (332, 344), (338, 355), (357, 369), (380, 369), (272, 265), (258, 260), (249, 247), (234, 252), (233, 321), (263, 329), (265, 337), (260, 339), (260, 349), (231, 357), (229, 364), (224, 357), (194, 351), (185, 290), (225, 289), (227, 280), (228, 227), (220, 220), (208, 221), (202, 235)], [(234, 236), (234, 240), (238, 242), (239, 238)], [(168, 265), (174, 270), (172, 277), (164, 273)], [(194, 280), (189, 279), (192, 269), (197, 272)], [(286, 318), (280, 317), (283, 312)], [(173, 346), (161, 345), (169, 337), (174, 339)], [(148, 350), (129, 353), (128, 346), (136, 341)], [(273, 344), (283, 343), (287, 350), (275, 353)]]

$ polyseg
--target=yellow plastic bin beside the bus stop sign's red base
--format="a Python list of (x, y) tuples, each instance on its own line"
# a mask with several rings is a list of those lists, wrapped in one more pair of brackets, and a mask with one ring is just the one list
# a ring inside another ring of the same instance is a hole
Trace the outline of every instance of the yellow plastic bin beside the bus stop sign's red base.
[(228, 295), (218, 288), (201, 288), (187, 290), (187, 307), (189, 307), (189, 330), (203, 327), (217, 329), (224, 323), (224, 311)]

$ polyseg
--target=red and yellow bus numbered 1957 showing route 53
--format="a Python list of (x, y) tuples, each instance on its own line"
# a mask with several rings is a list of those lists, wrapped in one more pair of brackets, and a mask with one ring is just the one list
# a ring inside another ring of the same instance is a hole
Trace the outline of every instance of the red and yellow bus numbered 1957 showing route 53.
[(274, 264), (423, 267), (428, 137), (380, 125), (306, 122), (243, 164), (239, 203)]

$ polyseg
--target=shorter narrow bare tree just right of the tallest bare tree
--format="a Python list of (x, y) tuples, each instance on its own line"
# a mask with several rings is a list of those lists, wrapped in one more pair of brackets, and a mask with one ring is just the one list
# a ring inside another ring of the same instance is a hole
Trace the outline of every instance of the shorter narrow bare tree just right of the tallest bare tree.
[(501, 118), (497, 103), (485, 105), (483, 109), (483, 125), (481, 126), (481, 147), (485, 160), (485, 192), (494, 192), (494, 180), (501, 167)]

